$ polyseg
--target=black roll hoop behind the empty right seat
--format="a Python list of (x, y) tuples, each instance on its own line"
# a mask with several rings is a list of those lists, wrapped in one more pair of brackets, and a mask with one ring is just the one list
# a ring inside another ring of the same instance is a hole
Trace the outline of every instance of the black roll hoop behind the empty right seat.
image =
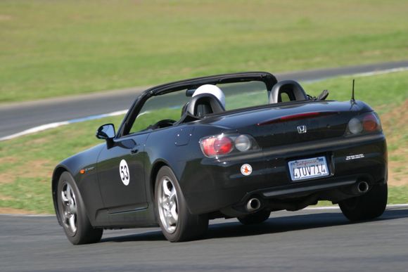
[(282, 102), (282, 94), (286, 94), (290, 101), (307, 100), (305, 90), (294, 80), (283, 80), (276, 83), (269, 95), (269, 104)]

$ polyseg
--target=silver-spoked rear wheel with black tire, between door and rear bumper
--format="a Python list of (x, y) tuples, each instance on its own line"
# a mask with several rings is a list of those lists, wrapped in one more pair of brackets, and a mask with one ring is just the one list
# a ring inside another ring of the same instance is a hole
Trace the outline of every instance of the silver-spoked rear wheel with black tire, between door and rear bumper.
[[(165, 191), (172, 197), (167, 197)], [(162, 233), (170, 242), (202, 238), (208, 230), (208, 215), (189, 212), (179, 182), (170, 167), (162, 167), (158, 171), (155, 181), (155, 214)], [(177, 219), (174, 219), (176, 215)]]

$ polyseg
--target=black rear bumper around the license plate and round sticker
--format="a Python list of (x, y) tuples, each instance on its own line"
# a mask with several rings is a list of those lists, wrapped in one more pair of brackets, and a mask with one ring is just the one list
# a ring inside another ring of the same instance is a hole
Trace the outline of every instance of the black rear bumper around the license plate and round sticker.
[[(317, 156), (326, 157), (329, 176), (291, 181), (289, 161)], [(243, 164), (251, 165), (252, 174), (241, 174)], [(180, 184), (191, 213), (223, 211), (234, 216), (234, 211), (244, 212), (243, 203), (254, 196), (265, 203), (306, 199), (336, 202), (354, 196), (351, 187), (358, 181), (369, 186), (386, 183), (387, 147), (385, 136), (378, 133), (286, 145), (218, 160), (203, 158), (189, 162), (186, 169), (189, 171)]]

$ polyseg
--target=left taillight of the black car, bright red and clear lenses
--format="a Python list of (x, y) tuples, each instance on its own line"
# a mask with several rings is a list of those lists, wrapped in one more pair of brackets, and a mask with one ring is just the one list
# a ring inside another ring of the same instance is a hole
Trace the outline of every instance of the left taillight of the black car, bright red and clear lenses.
[(207, 157), (219, 157), (231, 152), (246, 152), (257, 149), (255, 139), (249, 135), (215, 135), (200, 139), (200, 147)]

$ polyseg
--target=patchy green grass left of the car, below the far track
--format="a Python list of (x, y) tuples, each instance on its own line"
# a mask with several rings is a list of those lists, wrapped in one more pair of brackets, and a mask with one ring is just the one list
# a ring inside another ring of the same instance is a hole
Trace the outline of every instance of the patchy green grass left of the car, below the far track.
[(53, 167), (65, 157), (103, 143), (94, 135), (99, 123), (112, 122), (118, 127), (121, 119), (77, 123), (0, 142), (0, 207), (53, 213)]

